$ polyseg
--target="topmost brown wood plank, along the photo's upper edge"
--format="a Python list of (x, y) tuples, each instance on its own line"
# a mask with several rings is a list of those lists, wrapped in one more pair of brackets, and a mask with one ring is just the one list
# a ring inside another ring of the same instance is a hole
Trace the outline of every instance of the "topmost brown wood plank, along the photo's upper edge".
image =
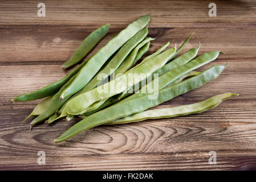
[(173, 23), (255, 23), (255, 1), (214, 1), (217, 17), (208, 15), (212, 1), (44, 1), (46, 17), (38, 17), (38, 2), (1, 1), (1, 24), (128, 24), (140, 15), (152, 14), (151, 26)]

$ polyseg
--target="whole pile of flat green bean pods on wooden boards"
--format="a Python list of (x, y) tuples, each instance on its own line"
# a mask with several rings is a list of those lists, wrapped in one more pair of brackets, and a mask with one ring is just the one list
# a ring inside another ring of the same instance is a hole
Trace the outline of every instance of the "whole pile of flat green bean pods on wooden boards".
[[(148, 110), (200, 88), (217, 78), (227, 66), (213, 65), (205, 71), (195, 71), (217, 59), (222, 52), (197, 56), (199, 43), (198, 47), (178, 55), (193, 34), (178, 49), (176, 44), (167, 48), (170, 44), (167, 42), (139, 62), (155, 40), (147, 37), (150, 19), (150, 15), (145, 15), (129, 24), (61, 80), (11, 99), (11, 102), (23, 102), (44, 98), (24, 121), (35, 116), (30, 123), (34, 126), (42, 121), (50, 124), (62, 117), (67, 121), (75, 116), (82, 118), (55, 139), (58, 143), (99, 125), (201, 113), (238, 95), (224, 93), (196, 104)], [(104, 24), (88, 35), (62, 68), (70, 68), (82, 61), (108, 33), (109, 27), (110, 24)], [(131, 75), (133, 78), (129, 81)]]

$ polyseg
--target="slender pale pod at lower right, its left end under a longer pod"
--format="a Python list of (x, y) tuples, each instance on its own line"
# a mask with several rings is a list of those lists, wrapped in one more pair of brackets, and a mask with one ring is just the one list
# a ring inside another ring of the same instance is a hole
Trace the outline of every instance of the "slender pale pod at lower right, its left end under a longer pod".
[(172, 118), (172, 117), (178, 117), (180, 115), (202, 113), (203, 111), (206, 111), (208, 109), (218, 106), (222, 101), (226, 100), (227, 98), (230, 98), (231, 96), (238, 96), (238, 94), (224, 93), (224, 94), (220, 94), (220, 95), (208, 98), (207, 100), (197, 102), (195, 104), (142, 111), (140, 113), (136, 113), (124, 118), (116, 119), (109, 123), (105, 123), (105, 125), (118, 125), (118, 124), (144, 121), (147, 119)]

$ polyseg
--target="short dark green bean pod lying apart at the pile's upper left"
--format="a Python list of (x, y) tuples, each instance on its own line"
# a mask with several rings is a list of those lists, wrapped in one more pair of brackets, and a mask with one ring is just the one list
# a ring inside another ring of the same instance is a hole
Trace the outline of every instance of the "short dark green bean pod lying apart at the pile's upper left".
[(99, 43), (100, 40), (107, 35), (109, 27), (109, 23), (104, 24), (95, 31), (91, 32), (91, 34), (88, 35), (87, 38), (84, 39), (83, 43), (76, 49), (70, 59), (62, 65), (62, 68), (66, 69), (72, 67), (72, 65), (75, 65), (79, 63), (79, 61), (83, 60), (84, 57), (86, 57), (86, 55), (97, 45), (97, 43)]

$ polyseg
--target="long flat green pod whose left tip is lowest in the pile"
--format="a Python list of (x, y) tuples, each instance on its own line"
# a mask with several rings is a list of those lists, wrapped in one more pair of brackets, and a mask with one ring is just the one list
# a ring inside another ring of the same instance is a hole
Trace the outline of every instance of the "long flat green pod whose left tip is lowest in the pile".
[(158, 97), (155, 100), (148, 99), (152, 94), (145, 94), (142, 97), (121, 102), (120, 104), (110, 106), (107, 109), (92, 114), (70, 127), (70, 129), (65, 131), (59, 138), (55, 139), (55, 143), (62, 142), (92, 127), (103, 125), (131, 114), (140, 113), (141, 111), (159, 105), (190, 90), (200, 88), (200, 86), (217, 78), (225, 67), (226, 65), (214, 65), (197, 76), (193, 76), (178, 84), (162, 89), (158, 92)]

